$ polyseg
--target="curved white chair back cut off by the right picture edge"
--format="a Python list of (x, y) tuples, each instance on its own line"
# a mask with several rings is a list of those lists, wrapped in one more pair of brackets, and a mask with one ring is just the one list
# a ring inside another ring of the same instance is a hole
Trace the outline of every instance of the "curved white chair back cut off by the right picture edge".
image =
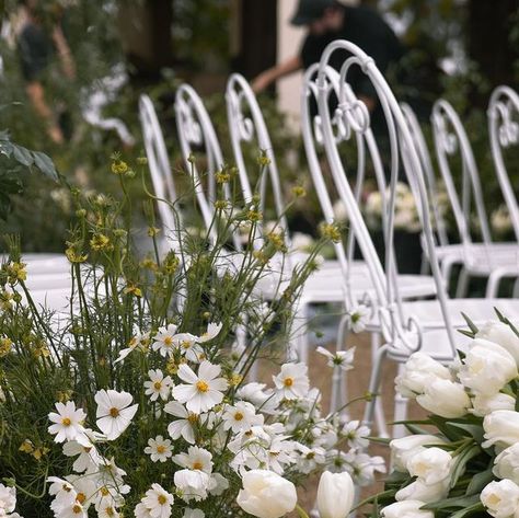
[(509, 87), (496, 88), (491, 95), (487, 113), (492, 158), (514, 232), (519, 241), (519, 206), (503, 157), (504, 149), (519, 143), (519, 95)]

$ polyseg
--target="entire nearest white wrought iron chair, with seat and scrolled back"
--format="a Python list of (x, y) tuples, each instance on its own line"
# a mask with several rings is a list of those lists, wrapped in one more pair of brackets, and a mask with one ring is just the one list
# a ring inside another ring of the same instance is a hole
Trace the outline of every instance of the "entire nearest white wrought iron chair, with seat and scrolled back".
[[(331, 114), (328, 99), (333, 85), (328, 80), (326, 69), (331, 56), (337, 50), (343, 53), (346, 50), (350, 57), (345, 60), (341, 69), (338, 106), (335, 113)], [(366, 105), (361, 101), (348, 99), (350, 89), (347, 87), (347, 78), (353, 66), (359, 66), (367, 79), (373, 84), (388, 123), (391, 149), (391, 181), (384, 267), (377, 255), (357, 199), (348, 183), (348, 175), (337, 147), (337, 127), (342, 127), (339, 130), (344, 131), (345, 136), (351, 136), (366, 133), (370, 126), (369, 112)], [(450, 361), (457, 355), (457, 346), (460, 342), (463, 342), (461, 336), (459, 339), (454, 338), (455, 329), (466, 325), (462, 312), (471, 315), (474, 322), (484, 322), (494, 316), (494, 308), (496, 307), (504, 314), (516, 319), (519, 316), (519, 301), (509, 299), (448, 299), (435, 252), (436, 243), (431, 227), (429, 200), (420, 161), (399, 103), (374, 65), (373, 59), (349, 42), (333, 42), (326, 47), (319, 66), (318, 93), (326, 156), (335, 186), (346, 206), (351, 228), (370, 270), (376, 295), (373, 310), (380, 322), (384, 338), (384, 345), (378, 352), (370, 381), (369, 390), (376, 394), (380, 388), (380, 369), (384, 358), (402, 364), (408, 359), (411, 354), (422, 349), (440, 361)], [(394, 275), (395, 258), (391, 244), (394, 233), (395, 187), (401, 163), (405, 169), (418, 205), (430, 267), (437, 285), (437, 299), (435, 300), (403, 302), (397, 277)], [(372, 423), (374, 404), (373, 400), (366, 407), (365, 422), (368, 426)], [(400, 407), (397, 410), (400, 412), (397, 418), (400, 419), (405, 416), (404, 408)]]

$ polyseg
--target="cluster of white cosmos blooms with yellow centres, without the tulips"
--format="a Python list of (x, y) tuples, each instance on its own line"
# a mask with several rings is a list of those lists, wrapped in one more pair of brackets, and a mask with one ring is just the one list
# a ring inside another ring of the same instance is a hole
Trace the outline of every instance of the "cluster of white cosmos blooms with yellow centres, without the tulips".
[[(142, 465), (150, 463), (162, 472), (135, 506), (137, 518), (169, 518), (174, 502), (185, 510), (184, 518), (204, 518), (194, 504), (223, 495), (230, 479), (242, 479), (246, 485), (253, 472), (296, 476), (328, 469), (351, 473), (360, 485), (370, 484), (374, 472), (384, 472), (380, 457), (364, 452), (368, 428), (336, 415), (321, 415), (321, 394), (311, 389), (304, 364), (282, 365), (268, 388), (257, 382), (242, 384), (235, 369), (243, 358), (235, 350), (230, 358), (220, 352), (221, 364), (215, 358), (210, 361), (205, 344), (221, 327), (210, 323), (201, 336), (178, 333), (174, 324), (154, 334), (136, 333), (129, 347), (119, 352), (118, 361), (140, 350), (152, 368), (139, 394), (115, 390), (95, 394), (99, 431), (86, 427), (88, 415), (74, 402), (56, 403), (48, 431), (56, 442), (64, 442), (64, 454), (74, 458), (73, 474), (48, 479), (56, 518), (85, 518), (89, 509), (95, 509), (100, 518), (123, 516), (131, 488), (125, 483), (126, 472), (115, 463), (117, 448), (114, 457), (102, 450), (119, 439), (137, 411), (139, 423), (150, 424), (150, 437), (135, 454)], [(326, 355), (333, 367), (349, 369), (353, 353)], [(134, 398), (140, 406), (134, 404)], [(151, 425), (154, 421), (163, 426), (160, 435), (155, 435), (159, 426)], [(341, 450), (339, 444), (349, 446), (349, 451)], [(164, 481), (169, 481), (168, 488), (161, 485)], [(237, 502), (237, 496), (229, 498)], [(238, 500), (243, 506), (251, 502), (245, 494)], [(126, 510), (124, 514), (127, 516)]]

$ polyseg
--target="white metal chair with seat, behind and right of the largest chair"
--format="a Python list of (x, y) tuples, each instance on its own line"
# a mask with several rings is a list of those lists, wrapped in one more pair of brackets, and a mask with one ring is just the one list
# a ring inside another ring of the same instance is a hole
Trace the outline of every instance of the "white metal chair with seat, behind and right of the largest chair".
[[(447, 245), (440, 249), (440, 253), (455, 256), (461, 251), (463, 267), (457, 297), (466, 293), (470, 277), (488, 278), (492, 275), (493, 281), (487, 286), (486, 296), (493, 298), (497, 295), (504, 269), (517, 270), (519, 266), (519, 243), (495, 243), (492, 240), (476, 161), (454, 108), (445, 100), (437, 101), (432, 108), (431, 123), (439, 170), (461, 240), (461, 246)], [(461, 159), (461, 186), (458, 188), (450, 168), (450, 159), (457, 153)], [(482, 237), (480, 242), (475, 241), (471, 230), (473, 205)]]

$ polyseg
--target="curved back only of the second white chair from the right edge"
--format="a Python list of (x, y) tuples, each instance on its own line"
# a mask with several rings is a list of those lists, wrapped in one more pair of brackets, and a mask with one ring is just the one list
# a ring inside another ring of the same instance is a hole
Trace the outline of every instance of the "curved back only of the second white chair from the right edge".
[[(476, 161), (460, 117), (447, 101), (441, 99), (435, 103), (431, 124), (439, 169), (446, 185), (461, 243), (463, 244), (465, 258), (470, 262), (470, 245), (473, 242), (471, 233), (473, 203), (475, 204), (475, 215), (483, 243), (492, 243), (488, 216), (483, 200)], [(450, 160), (457, 153), (459, 153), (461, 159), (461, 188), (457, 188), (450, 168)]]

